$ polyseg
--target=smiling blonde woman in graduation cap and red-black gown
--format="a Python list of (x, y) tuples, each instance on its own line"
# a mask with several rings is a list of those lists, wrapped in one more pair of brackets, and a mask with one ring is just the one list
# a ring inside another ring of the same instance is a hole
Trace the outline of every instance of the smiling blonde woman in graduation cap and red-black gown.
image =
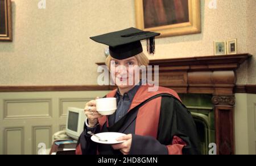
[[(195, 123), (177, 93), (163, 87), (150, 92), (150, 85), (144, 85), (143, 80), (135, 78), (138, 66), (148, 65), (140, 40), (148, 39), (148, 52), (154, 53), (154, 37), (158, 35), (128, 28), (91, 38), (109, 45), (110, 56), (106, 58), (106, 65), (114, 75), (118, 89), (105, 97), (117, 98), (117, 110), (112, 115), (102, 116), (96, 110), (96, 101), (86, 103), (88, 119), (77, 144), (77, 154), (199, 153)], [(90, 139), (88, 131), (122, 132), (126, 135), (117, 140), (125, 142), (98, 144)]]

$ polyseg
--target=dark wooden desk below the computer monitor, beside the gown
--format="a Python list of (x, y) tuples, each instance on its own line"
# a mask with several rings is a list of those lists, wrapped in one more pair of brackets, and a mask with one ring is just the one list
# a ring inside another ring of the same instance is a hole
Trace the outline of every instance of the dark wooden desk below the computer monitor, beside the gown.
[(56, 155), (75, 155), (75, 149), (76, 142), (73, 139), (55, 140), (52, 143), (49, 155), (52, 155), (52, 153), (56, 153)]

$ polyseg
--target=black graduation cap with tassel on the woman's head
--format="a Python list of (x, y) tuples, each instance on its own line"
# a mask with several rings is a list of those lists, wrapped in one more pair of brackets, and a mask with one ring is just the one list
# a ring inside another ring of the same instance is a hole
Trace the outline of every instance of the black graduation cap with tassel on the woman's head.
[(143, 51), (141, 40), (147, 39), (147, 52), (155, 53), (155, 36), (159, 33), (127, 28), (121, 31), (90, 37), (95, 42), (109, 45), (109, 53), (114, 59), (122, 60)]

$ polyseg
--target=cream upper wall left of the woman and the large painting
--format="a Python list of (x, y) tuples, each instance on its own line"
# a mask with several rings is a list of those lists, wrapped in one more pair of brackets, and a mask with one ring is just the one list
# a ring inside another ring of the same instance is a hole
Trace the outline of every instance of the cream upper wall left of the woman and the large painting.
[(0, 42), (0, 85), (93, 85), (104, 45), (90, 36), (134, 26), (127, 0), (12, 0), (14, 40)]

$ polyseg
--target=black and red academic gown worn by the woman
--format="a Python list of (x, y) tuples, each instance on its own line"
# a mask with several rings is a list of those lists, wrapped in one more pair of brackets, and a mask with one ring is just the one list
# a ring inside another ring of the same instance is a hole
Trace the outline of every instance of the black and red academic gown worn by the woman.
[[(177, 93), (162, 87), (158, 92), (148, 92), (148, 87), (138, 89), (127, 114), (118, 122), (114, 123), (110, 116), (100, 118), (95, 132), (132, 134), (130, 155), (199, 154), (195, 122)], [(106, 97), (114, 97), (116, 92)], [(76, 153), (122, 154), (111, 145), (93, 142), (86, 134), (86, 127)]]

